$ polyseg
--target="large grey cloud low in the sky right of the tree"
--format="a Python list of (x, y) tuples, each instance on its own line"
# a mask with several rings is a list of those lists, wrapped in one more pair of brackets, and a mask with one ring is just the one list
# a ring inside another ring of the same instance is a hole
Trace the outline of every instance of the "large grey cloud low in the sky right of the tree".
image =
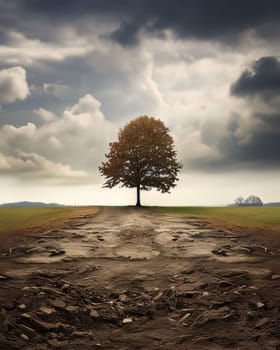
[(218, 125), (205, 124), (201, 131), (202, 141), (217, 150), (220, 158), (195, 159), (191, 166), (213, 172), (279, 169), (280, 114), (255, 113), (251, 117), (257, 123), (247, 130), (248, 135), (245, 132), (247, 140), (240, 137), (238, 132), (244, 128), (239, 115), (230, 118), (227, 130), (218, 137), (215, 132)]

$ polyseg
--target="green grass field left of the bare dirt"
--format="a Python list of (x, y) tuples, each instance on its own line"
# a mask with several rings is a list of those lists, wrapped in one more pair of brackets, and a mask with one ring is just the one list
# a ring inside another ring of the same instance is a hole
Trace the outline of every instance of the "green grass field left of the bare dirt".
[(0, 208), (0, 235), (56, 227), (71, 218), (97, 212), (95, 207)]

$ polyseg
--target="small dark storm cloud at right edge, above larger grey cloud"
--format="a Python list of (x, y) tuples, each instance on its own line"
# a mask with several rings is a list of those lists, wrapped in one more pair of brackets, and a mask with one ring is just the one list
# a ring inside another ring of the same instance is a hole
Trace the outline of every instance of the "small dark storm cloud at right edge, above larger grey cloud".
[(275, 95), (280, 93), (280, 62), (276, 57), (262, 57), (245, 70), (232, 85), (236, 96)]

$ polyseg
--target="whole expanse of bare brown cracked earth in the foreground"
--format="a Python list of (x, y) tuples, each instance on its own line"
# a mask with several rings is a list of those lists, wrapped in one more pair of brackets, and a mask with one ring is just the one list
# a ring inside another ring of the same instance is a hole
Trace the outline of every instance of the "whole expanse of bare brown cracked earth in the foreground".
[(280, 349), (277, 238), (131, 208), (25, 236), (0, 250), (0, 349)]

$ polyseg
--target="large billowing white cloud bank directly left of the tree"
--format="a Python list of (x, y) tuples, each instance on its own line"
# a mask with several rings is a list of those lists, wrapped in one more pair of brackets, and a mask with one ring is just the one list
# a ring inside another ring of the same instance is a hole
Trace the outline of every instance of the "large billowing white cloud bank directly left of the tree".
[[(0, 174), (24, 181), (52, 183), (98, 182), (98, 165), (117, 128), (100, 111), (91, 95), (67, 108), (61, 117), (39, 109), (44, 123), (0, 129)], [(34, 151), (36, 150), (36, 151)]]

